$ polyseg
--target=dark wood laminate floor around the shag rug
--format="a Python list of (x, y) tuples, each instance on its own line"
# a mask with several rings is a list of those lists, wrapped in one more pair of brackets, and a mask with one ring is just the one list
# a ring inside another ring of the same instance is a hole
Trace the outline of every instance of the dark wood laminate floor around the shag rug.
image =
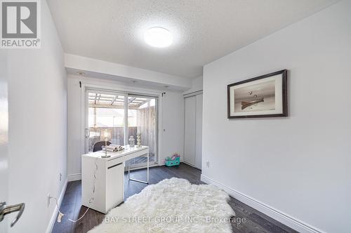
[[(150, 183), (155, 184), (166, 178), (185, 178), (189, 180), (192, 184), (203, 184), (200, 180), (201, 171), (187, 164), (180, 164), (180, 166), (168, 168), (166, 166), (157, 166), (150, 168)], [(145, 169), (132, 171), (131, 176), (137, 179), (145, 179)], [(124, 197), (127, 199), (133, 194), (137, 194), (144, 187), (145, 184), (140, 182), (129, 181), (128, 178), (124, 179)], [(282, 225), (282, 223), (277, 222), (276, 220), (268, 217), (267, 215), (256, 211), (255, 209), (243, 204), (237, 199), (230, 198), (228, 201), (230, 206), (234, 209), (237, 214), (235, 218), (245, 218), (246, 222), (241, 222), (240, 224), (232, 223), (233, 232), (242, 232), (242, 233), (265, 233), (265, 232), (274, 232), (274, 233), (291, 233), (296, 232), (295, 230)], [(102, 222), (105, 215), (97, 211), (89, 210), (84, 218), (79, 222), (69, 222), (68, 218), (77, 219), (85, 211), (86, 207), (81, 206), (81, 181), (69, 182), (63, 197), (61, 204), (61, 211), (66, 213), (62, 218), (62, 222), (55, 222), (53, 227), (54, 233), (84, 233), (88, 232), (89, 229), (92, 229), (95, 225), (98, 225)]]

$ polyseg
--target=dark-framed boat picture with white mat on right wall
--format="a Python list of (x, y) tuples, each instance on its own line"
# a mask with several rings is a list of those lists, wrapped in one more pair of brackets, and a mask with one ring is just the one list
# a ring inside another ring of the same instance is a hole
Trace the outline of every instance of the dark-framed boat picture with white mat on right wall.
[(227, 86), (228, 119), (288, 116), (287, 70)]

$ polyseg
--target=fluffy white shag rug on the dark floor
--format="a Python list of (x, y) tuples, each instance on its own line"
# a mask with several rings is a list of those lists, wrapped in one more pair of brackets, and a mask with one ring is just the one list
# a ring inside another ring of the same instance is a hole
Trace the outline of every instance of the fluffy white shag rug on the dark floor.
[(89, 233), (232, 232), (228, 194), (214, 185), (178, 178), (148, 185), (107, 213)]

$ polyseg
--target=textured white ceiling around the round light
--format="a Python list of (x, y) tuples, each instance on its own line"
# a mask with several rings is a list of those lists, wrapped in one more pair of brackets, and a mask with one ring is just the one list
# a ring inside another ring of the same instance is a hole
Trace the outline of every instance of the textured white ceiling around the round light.
[[(338, 0), (48, 0), (66, 53), (184, 77)], [(150, 27), (168, 48), (143, 41)]]

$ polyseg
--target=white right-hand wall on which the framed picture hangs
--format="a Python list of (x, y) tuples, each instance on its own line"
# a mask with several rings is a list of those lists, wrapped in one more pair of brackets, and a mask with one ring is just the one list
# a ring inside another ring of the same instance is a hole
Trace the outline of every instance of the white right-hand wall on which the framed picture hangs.
[[(350, 25), (342, 1), (204, 67), (204, 180), (301, 232), (350, 232)], [(288, 118), (227, 119), (227, 84), (280, 69)]]

